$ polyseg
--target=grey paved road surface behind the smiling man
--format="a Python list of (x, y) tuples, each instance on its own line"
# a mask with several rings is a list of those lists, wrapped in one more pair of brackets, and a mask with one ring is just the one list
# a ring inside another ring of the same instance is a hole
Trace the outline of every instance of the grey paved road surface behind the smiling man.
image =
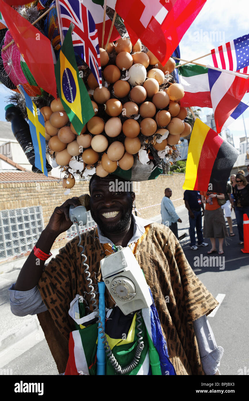
[[(189, 227), (187, 210), (185, 207), (177, 208), (177, 213), (182, 219), (178, 223), (179, 235)], [(227, 238), (224, 246), (224, 259), (216, 259), (212, 266), (195, 266), (197, 258), (207, 256), (208, 247), (201, 247), (192, 251), (189, 247), (189, 237), (181, 240), (183, 251), (191, 267), (205, 284), (208, 290), (217, 297), (225, 294), (225, 298), (217, 309), (214, 317), (209, 317), (211, 328), (215, 334), (217, 345), (223, 346), (225, 352), (221, 360), (220, 371), (222, 375), (249, 374), (249, 344), (248, 344), (248, 281), (249, 259), (248, 254), (240, 251), (237, 245), (239, 237), (235, 216), (232, 215), (235, 237)], [(157, 220), (160, 222), (160, 219)], [(206, 240), (210, 244), (209, 240)], [(202, 255), (202, 256), (201, 256)], [(218, 254), (214, 254), (218, 256)], [(213, 256), (213, 255), (211, 255)], [(211, 259), (208, 259), (210, 262)], [(213, 260), (213, 259), (212, 259)], [(223, 265), (222, 265), (223, 263)], [(203, 264), (203, 263), (202, 263)], [(223, 268), (224, 267), (224, 268)], [(222, 297), (221, 297), (222, 298)], [(18, 358), (12, 360), (5, 368), (13, 370), (14, 375), (58, 375), (56, 365), (47, 346), (46, 340), (26, 351)]]

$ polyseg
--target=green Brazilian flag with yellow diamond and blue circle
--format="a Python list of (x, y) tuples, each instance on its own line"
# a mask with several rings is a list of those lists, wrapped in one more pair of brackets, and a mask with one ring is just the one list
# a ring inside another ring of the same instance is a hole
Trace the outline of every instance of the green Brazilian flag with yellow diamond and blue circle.
[(80, 135), (84, 125), (94, 116), (91, 99), (75, 60), (70, 25), (55, 66), (56, 83), (63, 107)]

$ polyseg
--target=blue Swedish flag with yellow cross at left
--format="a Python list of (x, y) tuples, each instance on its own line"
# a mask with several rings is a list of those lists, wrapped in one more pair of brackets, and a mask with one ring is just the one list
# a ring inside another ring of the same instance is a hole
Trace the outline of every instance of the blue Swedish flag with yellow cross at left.
[(46, 168), (46, 141), (45, 141), (45, 123), (42, 113), (37, 109), (34, 102), (25, 92), (22, 85), (19, 85), (22, 94), (25, 97), (26, 108), (28, 113), (28, 122), (30, 134), (35, 152), (35, 167), (48, 176)]

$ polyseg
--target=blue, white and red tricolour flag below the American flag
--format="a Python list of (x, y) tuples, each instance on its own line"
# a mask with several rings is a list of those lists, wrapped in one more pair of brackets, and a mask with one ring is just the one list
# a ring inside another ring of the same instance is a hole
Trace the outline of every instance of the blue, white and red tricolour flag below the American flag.
[(208, 80), (215, 126), (219, 134), (247, 109), (241, 99), (249, 89), (249, 79), (208, 69)]

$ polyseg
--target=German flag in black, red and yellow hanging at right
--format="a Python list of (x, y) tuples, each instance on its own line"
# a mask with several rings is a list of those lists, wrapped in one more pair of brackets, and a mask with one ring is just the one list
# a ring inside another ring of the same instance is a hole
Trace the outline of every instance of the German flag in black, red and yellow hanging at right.
[(195, 120), (183, 189), (224, 193), (239, 152), (198, 118)]

